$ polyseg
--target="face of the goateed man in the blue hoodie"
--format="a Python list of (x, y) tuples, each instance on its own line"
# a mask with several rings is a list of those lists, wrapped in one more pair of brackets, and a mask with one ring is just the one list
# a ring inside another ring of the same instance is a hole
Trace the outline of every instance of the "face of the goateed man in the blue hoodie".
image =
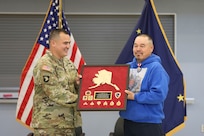
[(136, 37), (133, 45), (133, 54), (139, 63), (149, 57), (153, 49), (153, 44), (148, 40), (148, 37)]

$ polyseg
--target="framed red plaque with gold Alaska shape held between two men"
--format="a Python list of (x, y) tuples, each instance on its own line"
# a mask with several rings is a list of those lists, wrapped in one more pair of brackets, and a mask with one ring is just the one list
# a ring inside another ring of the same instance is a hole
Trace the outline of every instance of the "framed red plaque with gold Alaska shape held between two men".
[(129, 65), (84, 65), (78, 110), (125, 110)]

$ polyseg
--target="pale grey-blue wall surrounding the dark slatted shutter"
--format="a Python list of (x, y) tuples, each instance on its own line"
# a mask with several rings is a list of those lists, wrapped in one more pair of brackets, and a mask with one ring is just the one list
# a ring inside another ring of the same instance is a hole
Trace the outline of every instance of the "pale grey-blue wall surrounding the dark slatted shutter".
[[(155, 0), (158, 13), (176, 14), (176, 56), (186, 81), (187, 97), (195, 103), (187, 105), (187, 121), (184, 129), (175, 136), (202, 136), (204, 124), (204, 1), (203, 0)], [(47, 11), (49, 0), (0, 1), (2, 12)], [(141, 13), (143, 0), (64, 0), (66, 13)], [(24, 136), (29, 130), (15, 120), (16, 104), (0, 104), (0, 135)], [(83, 129), (87, 136), (108, 136), (114, 129), (117, 112), (82, 112)]]

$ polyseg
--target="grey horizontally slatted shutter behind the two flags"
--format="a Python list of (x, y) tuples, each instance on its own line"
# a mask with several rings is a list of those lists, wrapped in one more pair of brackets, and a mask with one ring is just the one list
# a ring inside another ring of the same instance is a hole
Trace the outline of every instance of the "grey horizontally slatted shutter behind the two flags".
[[(44, 16), (0, 14), (0, 63), (4, 64), (0, 65), (0, 86), (19, 86), (21, 71)], [(69, 27), (87, 64), (114, 64), (138, 18), (139, 15), (67, 15)], [(174, 16), (160, 15), (160, 18), (174, 46)], [(9, 82), (9, 75), (13, 75), (14, 82)]]

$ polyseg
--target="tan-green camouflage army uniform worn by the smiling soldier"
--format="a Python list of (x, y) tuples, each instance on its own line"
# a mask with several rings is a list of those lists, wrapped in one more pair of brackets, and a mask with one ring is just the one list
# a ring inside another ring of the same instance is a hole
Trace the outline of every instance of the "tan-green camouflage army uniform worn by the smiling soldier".
[(32, 127), (71, 131), (80, 127), (81, 114), (76, 110), (79, 86), (74, 64), (66, 57), (59, 60), (47, 51), (34, 67), (33, 76)]

